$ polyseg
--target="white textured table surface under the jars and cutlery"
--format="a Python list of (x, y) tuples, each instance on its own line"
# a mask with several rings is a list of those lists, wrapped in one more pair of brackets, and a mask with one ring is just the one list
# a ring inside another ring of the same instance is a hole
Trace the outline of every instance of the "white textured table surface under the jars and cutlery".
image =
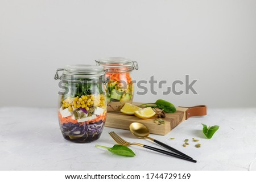
[[(205, 139), (201, 123), (220, 129), (212, 139)], [(55, 108), (0, 108), (0, 170), (256, 170), (256, 108), (210, 108), (208, 116), (189, 118), (166, 136), (150, 135), (197, 163), (139, 146), (130, 146), (135, 157), (95, 147), (113, 146), (108, 134), (112, 130), (127, 141), (160, 147), (135, 138), (129, 130), (107, 127), (97, 141), (73, 143), (61, 135)], [(183, 147), (186, 138), (190, 145)], [(192, 138), (200, 139), (200, 149)]]

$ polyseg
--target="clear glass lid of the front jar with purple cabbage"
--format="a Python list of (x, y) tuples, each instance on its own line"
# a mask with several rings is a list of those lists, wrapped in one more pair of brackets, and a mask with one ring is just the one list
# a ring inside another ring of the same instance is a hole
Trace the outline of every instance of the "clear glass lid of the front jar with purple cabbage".
[[(59, 76), (58, 71), (63, 71), (63, 74)], [(102, 66), (97, 65), (67, 65), (64, 69), (57, 69), (55, 79), (94, 79), (105, 75), (105, 72)]]

